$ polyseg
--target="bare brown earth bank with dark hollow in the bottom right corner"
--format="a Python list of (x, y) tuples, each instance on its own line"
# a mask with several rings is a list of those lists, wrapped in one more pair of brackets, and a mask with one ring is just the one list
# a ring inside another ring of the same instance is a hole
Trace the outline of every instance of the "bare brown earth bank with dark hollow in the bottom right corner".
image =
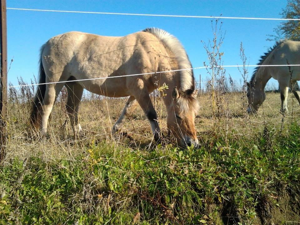
[(296, 193), (277, 190), (260, 198), (256, 216), (247, 218), (237, 212), (230, 202), (208, 207), (211, 224), (234, 225), (300, 225), (300, 198)]

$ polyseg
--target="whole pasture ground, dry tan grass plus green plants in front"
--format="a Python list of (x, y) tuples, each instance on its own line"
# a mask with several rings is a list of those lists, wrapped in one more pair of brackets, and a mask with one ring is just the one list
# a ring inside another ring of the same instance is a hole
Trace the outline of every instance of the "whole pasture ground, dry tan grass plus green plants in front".
[(248, 116), (242, 93), (217, 93), (215, 113), (211, 94), (200, 93), (198, 149), (169, 140), (160, 97), (152, 100), (162, 144), (140, 108), (112, 137), (126, 99), (89, 94), (79, 111), (85, 137), (74, 138), (65, 95), (38, 140), (29, 132), (32, 90), (10, 92), (0, 224), (300, 224), (300, 107), (292, 94), (286, 116), (279, 93)]

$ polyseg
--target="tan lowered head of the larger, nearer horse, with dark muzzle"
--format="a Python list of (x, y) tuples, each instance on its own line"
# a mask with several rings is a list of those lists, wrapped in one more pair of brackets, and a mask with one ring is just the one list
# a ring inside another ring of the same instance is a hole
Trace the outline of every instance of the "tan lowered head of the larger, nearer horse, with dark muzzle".
[(181, 94), (177, 87), (172, 91), (172, 103), (168, 107), (168, 129), (177, 144), (183, 147), (199, 145), (195, 129), (195, 117), (198, 111), (196, 95), (197, 90), (191, 95)]

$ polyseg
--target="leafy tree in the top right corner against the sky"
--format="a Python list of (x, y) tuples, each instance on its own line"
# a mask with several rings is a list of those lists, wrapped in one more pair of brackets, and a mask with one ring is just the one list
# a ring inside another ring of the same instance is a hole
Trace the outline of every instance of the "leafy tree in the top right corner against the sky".
[[(285, 19), (300, 19), (300, 0), (287, 0), (287, 6), (280, 13)], [(276, 28), (276, 35), (269, 35), (267, 40), (280, 40), (283, 38), (300, 41), (300, 21), (286, 20)]]

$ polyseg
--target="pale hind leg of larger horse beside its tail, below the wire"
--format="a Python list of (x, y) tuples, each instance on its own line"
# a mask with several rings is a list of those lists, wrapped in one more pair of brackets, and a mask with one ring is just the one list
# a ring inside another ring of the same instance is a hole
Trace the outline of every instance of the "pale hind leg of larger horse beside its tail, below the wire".
[(63, 88), (63, 83), (56, 83), (56, 84), (47, 84), (45, 96), (42, 102), (42, 112), (41, 112), (41, 135), (45, 136), (47, 134), (47, 125), (50, 113), (52, 111), (53, 105), (56, 101), (56, 97), (58, 96), (59, 92)]

